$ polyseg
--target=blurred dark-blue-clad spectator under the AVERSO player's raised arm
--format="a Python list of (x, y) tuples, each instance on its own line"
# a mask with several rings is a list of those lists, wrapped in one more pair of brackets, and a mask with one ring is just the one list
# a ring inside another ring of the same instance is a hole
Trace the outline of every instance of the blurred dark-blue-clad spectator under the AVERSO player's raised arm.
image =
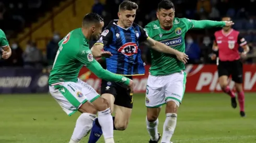
[(201, 49), (199, 45), (194, 42), (191, 35), (187, 35), (186, 37), (185, 53), (189, 56), (188, 63), (200, 63)]

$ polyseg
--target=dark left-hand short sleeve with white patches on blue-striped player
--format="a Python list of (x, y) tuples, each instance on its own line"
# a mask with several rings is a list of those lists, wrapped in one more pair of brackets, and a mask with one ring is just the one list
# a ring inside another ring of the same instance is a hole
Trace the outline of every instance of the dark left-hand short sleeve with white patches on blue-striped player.
[(99, 40), (95, 44), (101, 44), (102, 46), (108, 46), (113, 40), (113, 33), (109, 28), (106, 28), (100, 35)]

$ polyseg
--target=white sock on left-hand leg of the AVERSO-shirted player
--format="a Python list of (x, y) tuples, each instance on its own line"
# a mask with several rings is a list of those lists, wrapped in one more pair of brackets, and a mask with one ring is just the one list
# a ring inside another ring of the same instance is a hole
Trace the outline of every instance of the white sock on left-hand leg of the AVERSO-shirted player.
[(148, 122), (146, 117), (146, 124), (147, 124), (147, 132), (150, 135), (151, 140), (158, 139), (157, 127), (158, 127), (158, 119), (155, 122)]

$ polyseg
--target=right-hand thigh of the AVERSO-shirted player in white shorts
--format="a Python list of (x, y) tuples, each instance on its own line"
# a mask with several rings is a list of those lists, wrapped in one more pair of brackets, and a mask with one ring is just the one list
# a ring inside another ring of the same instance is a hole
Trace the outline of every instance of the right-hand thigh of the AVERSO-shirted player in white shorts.
[(185, 92), (187, 73), (184, 71), (173, 73), (166, 76), (166, 80), (168, 84), (165, 86), (165, 100), (166, 102), (172, 101), (179, 107)]

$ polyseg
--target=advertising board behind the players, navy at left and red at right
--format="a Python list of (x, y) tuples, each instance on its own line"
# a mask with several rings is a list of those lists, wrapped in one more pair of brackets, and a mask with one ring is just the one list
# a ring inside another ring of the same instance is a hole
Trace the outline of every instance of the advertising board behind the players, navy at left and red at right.
[[(145, 93), (149, 66), (145, 66), (146, 74), (134, 76), (134, 93)], [(187, 84), (185, 92), (211, 93), (221, 92), (218, 84), (217, 67), (214, 64), (188, 64)], [(243, 89), (245, 92), (256, 92), (256, 64), (243, 65)], [(0, 93), (48, 93), (49, 72), (45, 69), (1, 69)], [(81, 80), (87, 82), (94, 89), (100, 88), (101, 80), (85, 67), (80, 70)], [(234, 89), (235, 83), (230, 81), (229, 86)]]

